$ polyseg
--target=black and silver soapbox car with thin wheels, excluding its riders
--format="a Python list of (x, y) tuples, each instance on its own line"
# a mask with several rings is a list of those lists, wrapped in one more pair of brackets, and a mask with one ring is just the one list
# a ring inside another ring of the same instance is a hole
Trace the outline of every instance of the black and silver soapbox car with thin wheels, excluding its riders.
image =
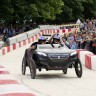
[(32, 58), (28, 58), (26, 51), (22, 60), (22, 75), (25, 75), (28, 66), (32, 79), (36, 77), (36, 69), (62, 70), (67, 74), (68, 68), (75, 68), (77, 77), (82, 77), (82, 64), (78, 54), (76, 50), (71, 50), (66, 45), (37, 45), (37, 49), (32, 51)]

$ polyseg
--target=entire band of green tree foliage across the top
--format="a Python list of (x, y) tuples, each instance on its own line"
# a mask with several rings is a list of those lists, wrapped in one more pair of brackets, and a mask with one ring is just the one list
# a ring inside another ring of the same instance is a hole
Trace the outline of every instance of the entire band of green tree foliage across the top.
[(62, 23), (96, 16), (96, 0), (0, 0), (0, 23)]

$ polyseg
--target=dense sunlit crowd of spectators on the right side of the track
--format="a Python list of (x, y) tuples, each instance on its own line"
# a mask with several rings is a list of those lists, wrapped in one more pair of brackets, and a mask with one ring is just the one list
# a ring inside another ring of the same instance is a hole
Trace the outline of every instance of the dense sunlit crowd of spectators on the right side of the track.
[(96, 54), (96, 19), (87, 19), (80, 32), (65, 33), (63, 40), (70, 49), (85, 49)]

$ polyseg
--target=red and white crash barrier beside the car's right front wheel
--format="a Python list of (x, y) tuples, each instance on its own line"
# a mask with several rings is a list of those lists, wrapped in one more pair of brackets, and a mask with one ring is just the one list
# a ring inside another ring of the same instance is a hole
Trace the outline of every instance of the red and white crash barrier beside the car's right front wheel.
[(96, 55), (84, 49), (78, 49), (78, 57), (86, 68), (96, 70)]

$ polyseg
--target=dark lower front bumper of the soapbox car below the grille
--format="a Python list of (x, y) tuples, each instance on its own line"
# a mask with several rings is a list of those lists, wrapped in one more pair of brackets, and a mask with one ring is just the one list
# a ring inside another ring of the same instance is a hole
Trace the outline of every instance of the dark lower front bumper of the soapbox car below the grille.
[(67, 69), (74, 61), (78, 59), (77, 56), (66, 58), (40, 58), (40, 64), (45, 65), (48, 69)]

